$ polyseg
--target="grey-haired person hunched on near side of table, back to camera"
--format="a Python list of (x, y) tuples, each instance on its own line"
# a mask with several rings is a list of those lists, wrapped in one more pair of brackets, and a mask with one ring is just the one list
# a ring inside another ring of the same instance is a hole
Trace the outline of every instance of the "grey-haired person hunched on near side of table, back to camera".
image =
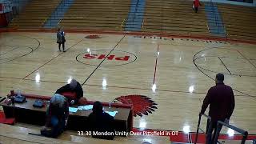
[(41, 134), (49, 138), (57, 138), (64, 131), (68, 116), (69, 104), (66, 98), (61, 94), (54, 94), (46, 110), (46, 124), (42, 127)]

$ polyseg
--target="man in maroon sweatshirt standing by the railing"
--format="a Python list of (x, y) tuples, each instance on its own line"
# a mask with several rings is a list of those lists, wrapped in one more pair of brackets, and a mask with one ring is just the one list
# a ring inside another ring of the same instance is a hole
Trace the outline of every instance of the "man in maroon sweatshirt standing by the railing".
[(211, 117), (211, 122), (207, 122), (207, 130), (208, 126), (211, 124), (212, 129), (210, 130), (210, 134), (212, 134), (214, 130), (213, 138), (215, 137), (218, 121), (229, 122), (235, 105), (233, 90), (230, 86), (226, 86), (223, 81), (224, 75), (216, 74), (216, 86), (213, 86), (208, 90), (200, 112), (200, 115), (204, 114), (208, 105), (210, 105), (209, 116)]

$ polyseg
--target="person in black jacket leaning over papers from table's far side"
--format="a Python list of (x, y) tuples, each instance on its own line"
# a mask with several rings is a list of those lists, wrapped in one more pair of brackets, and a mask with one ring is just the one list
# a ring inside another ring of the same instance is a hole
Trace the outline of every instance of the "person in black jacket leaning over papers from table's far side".
[[(64, 94), (66, 92), (74, 92), (75, 96), (68, 97)], [(83, 97), (83, 90), (82, 90), (81, 84), (77, 82), (75, 79), (72, 79), (70, 84), (66, 84), (65, 86), (62, 86), (55, 92), (55, 94), (62, 94), (66, 98), (68, 98), (68, 101), (71, 104), (77, 104), (79, 99)], [(74, 102), (71, 102), (72, 100), (74, 100)]]

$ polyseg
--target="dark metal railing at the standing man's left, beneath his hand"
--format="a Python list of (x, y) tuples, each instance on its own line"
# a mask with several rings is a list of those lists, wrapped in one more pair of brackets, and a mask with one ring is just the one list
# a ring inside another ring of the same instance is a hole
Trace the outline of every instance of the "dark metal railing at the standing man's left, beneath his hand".
[[(207, 125), (208, 125), (207, 126), (207, 132), (205, 132), (204, 130), (202, 130), (200, 128), (200, 123), (201, 123), (202, 116), (207, 118)], [(211, 118), (210, 118), (210, 116), (208, 116), (206, 114), (200, 114), (199, 118), (198, 118), (198, 129), (197, 129), (197, 134), (195, 136), (194, 144), (196, 144), (198, 142), (198, 132), (199, 132), (199, 130), (201, 130), (203, 133), (206, 134), (206, 143), (210, 143), (210, 141), (211, 141), (211, 134), (210, 134), (211, 129), (212, 129), (212, 126), (211, 126)]]

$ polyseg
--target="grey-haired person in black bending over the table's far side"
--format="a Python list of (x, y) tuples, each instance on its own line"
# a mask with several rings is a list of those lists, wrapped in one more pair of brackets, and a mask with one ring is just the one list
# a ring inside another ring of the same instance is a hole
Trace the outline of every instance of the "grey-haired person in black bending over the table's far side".
[(69, 84), (62, 86), (59, 88), (55, 94), (62, 94), (66, 98), (71, 105), (73, 104), (86, 104), (86, 98), (83, 98), (83, 90), (82, 86), (75, 79), (72, 79)]

